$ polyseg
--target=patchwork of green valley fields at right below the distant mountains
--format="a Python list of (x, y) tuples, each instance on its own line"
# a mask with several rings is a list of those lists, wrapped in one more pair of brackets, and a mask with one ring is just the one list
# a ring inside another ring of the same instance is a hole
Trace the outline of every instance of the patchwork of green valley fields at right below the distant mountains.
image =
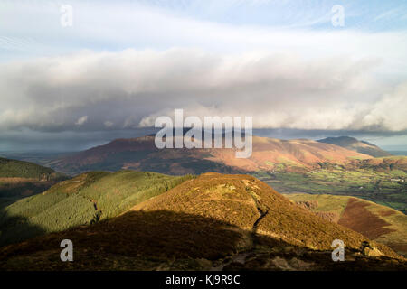
[(349, 195), (372, 200), (406, 213), (407, 173), (370, 169), (319, 169), (311, 172), (257, 172), (254, 174), (279, 192)]

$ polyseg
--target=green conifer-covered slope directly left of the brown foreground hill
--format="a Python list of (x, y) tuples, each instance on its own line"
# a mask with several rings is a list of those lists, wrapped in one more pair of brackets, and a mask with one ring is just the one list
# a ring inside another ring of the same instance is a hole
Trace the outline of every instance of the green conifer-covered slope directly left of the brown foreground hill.
[(5, 207), (0, 212), (0, 244), (117, 216), (189, 178), (132, 171), (81, 174)]

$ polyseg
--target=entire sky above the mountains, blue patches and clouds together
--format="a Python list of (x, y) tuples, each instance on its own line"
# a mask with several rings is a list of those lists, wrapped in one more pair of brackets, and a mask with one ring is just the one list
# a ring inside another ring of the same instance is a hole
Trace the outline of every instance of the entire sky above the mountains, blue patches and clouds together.
[(2, 0), (0, 150), (141, 136), (175, 108), (407, 150), (406, 51), (405, 1)]

